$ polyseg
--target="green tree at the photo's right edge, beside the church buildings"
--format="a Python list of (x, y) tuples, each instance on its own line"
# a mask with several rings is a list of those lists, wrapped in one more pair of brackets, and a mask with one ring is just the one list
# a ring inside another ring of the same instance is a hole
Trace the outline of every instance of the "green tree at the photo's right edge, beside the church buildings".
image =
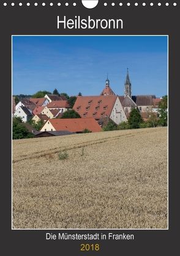
[(159, 124), (160, 126), (168, 125), (168, 96), (165, 95), (162, 97), (161, 102), (159, 103)]

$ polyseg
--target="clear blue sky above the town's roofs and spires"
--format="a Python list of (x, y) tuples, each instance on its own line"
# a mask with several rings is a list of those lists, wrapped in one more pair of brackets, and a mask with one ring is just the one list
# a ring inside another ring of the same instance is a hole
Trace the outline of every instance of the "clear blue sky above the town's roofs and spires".
[(99, 95), (167, 94), (167, 36), (13, 36), (13, 95), (38, 90)]

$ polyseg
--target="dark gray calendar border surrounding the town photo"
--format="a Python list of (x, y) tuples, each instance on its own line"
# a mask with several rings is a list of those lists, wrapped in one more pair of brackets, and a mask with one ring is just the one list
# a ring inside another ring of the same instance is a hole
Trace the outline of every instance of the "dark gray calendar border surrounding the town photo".
[[(140, 2), (140, 1), (138, 1)], [(147, 2), (147, 1), (146, 1)], [(170, 2), (170, 1), (169, 1)], [(0, 9), (1, 24), (1, 102), (4, 107), (1, 134), (1, 220), (6, 254), (18, 255), (80, 255), (81, 241), (45, 241), (42, 230), (11, 230), (11, 35), (12, 34), (168, 34), (169, 35), (169, 230), (133, 230), (124, 233), (135, 234), (134, 241), (100, 241), (100, 252), (87, 252), (89, 255), (170, 255), (171, 249), (178, 248), (178, 92), (179, 92), (179, 6), (174, 7), (124, 7), (86, 10), (82, 6), (55, 7), (43, 9), (36, 7), (13, 7)], [(101, 14), (101, 15), (100, 15)], [(92, 18), (122, 18), (124, 29), (109, 30), (66, 30), (56, 29), (57, 15), (81, 18), (91, 15)], [(176, 119), (175, 119), (176, 116)], [(175, 123), (176, 120), (176, 123)], [(176, 144), (177, 143), (177, 144)], [(54, 233), (54, 231), (52, 230)], [(67, 231), (76, 233), (76, 230)], [(100, 230), (99, 230), (100, 232)], [(109, 231), (102, 231), (103, 233)], [(79, 233), (88, 233), (80, 230)], [(91, 231), (96, 233), (96, 231)], [(123, 233), (122, 230), (114, 233)], [(177, 247), (176, 247), (177, 246)]]

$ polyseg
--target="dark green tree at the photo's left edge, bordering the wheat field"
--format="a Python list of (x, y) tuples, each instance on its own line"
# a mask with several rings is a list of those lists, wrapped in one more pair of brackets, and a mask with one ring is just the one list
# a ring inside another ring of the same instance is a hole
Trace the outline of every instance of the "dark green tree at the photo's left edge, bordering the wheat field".
[(21, 118), (12, 119), (12, 138), (13, 140), (18, 138), (33, 138), (34, 135), (29, 132), (29, 130), (23, 126)]

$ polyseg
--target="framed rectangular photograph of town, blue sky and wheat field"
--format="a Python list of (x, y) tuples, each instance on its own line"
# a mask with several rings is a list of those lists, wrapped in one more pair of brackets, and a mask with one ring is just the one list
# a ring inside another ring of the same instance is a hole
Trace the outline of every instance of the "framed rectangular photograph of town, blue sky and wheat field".
[(168, 229), (168, 36), (12, 36), (12, 229)]

